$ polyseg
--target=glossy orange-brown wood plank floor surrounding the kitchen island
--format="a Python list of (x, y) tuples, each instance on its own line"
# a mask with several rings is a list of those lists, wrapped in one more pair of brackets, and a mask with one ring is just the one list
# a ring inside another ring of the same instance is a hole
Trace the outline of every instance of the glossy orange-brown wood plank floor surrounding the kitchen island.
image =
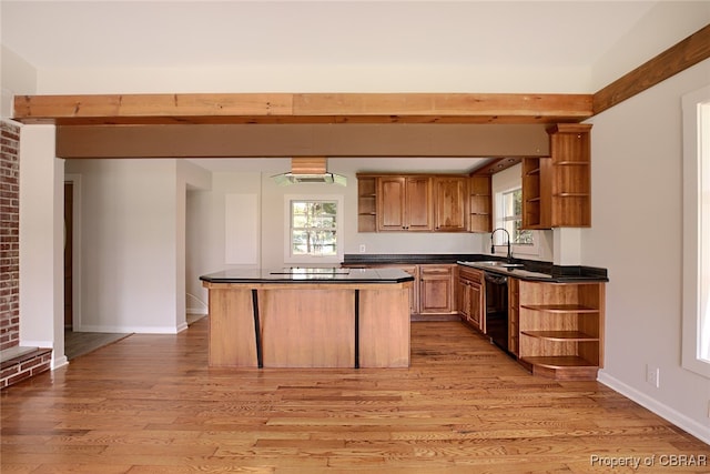
[(710, 472), (660, 463), (709, 445), (596, 382), (532, 376), (459, 322), (414, 322), (412, 366), (387, 370), (210, 370), (206, 329), (134, 334), (2, 391), (0, 471)]

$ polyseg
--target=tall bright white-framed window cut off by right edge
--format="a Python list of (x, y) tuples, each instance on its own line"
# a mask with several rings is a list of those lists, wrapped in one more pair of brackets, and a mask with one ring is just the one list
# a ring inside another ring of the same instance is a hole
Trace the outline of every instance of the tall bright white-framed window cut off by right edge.
[(710, 379), (710, 85), (682, 98), (682, 365)]

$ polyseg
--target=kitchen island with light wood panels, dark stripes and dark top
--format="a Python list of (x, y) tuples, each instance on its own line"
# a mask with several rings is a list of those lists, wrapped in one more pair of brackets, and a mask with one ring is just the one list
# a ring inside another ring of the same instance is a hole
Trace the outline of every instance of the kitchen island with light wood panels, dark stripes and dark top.
[(402, 270), (227, 270), (200, 280), (211, 367), (409, 366), (414, 279)]

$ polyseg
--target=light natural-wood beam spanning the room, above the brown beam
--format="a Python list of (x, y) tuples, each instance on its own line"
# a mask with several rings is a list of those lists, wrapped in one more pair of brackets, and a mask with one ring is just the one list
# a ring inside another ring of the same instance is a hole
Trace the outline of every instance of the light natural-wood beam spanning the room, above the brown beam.
[(59, 125), (580, 122), (591, 94), (186, 93), (19, 95), (14, 120)]

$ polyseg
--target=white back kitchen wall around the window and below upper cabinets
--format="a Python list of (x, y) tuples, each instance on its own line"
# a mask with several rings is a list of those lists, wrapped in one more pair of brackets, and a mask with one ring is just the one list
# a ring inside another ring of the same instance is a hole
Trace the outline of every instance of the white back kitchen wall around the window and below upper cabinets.
[[(407, 160), (400, 159), (406, 172)], [(199, 160), (196, 161), (199, 163)], [(284, 265), (284, 200), (287, 194), (342, 195), (344, 199), (344, 253), (479, 253), (484, 234), (437, 232), (357, 232), (357, 179), (349, 171), (338, 170), (334, 160), (328, 170), (347, 178), (347, 186), (335, 184), (296, 184), (280, 186), (271, 178), (275, 172), (215, 172), (211, 190), (190, 191), (187, 198), (187, 293), (206, 301), (206, 291), (199, 276), (231, 268), (281, 268)], [(272, 167), (266, 163), (265, 168)], [(287, 171), (287, 170), (282, 170)], [(256, 265), (225, 263), (226, 194), (258, 196), (258, 256)], [(488, 235), (488, 234), (486, 234)], [(333, 263), (329, 263), (332, 265)], [(337, 264), (337, 263), (336, 263)], [(194, 300), (194, 299), (193, 299)], [(195, 302), (199, 305), (199, 302)]]

